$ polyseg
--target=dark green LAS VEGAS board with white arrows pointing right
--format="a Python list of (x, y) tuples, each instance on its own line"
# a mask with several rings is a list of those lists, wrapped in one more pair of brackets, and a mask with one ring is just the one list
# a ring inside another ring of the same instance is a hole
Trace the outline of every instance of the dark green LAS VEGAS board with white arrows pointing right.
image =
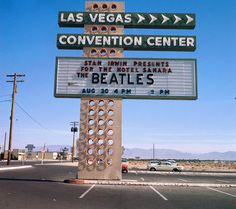
[(59, 12), (60, 27), (84, 25), (123, 25), (125, 28), (193, 29), (195, 14), (183, 13), (108, 13)]

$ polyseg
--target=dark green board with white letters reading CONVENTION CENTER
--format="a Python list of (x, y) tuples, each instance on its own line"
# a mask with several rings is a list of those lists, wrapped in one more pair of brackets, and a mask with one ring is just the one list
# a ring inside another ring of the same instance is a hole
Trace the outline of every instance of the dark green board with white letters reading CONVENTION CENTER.
[(125, 50), (194, 51), (195, 36), (83, 35), (58, 34), (59, 49), (116, 47)]

